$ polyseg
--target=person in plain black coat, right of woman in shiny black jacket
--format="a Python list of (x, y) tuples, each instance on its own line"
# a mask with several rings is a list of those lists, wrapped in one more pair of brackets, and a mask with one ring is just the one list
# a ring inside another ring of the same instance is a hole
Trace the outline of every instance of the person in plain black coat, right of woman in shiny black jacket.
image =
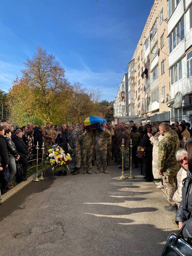
[(15, 132), (15, 136), (12, 138), (12, 141), (15, 144), (15, 147), (17, 149), (17, 153), (20, 155), (19, 158), (19, 163), (22, 164), (23, 166), (23, 172), (24, 172), (24, 176), (26, 176), (27, 173), (27, 168), (28, 168), (28, 162), (27, 162), (27, 146), (26, 144), (22, 141), (22, 136), (23, 136), (23, 132), (22, 130), (18, 129)]

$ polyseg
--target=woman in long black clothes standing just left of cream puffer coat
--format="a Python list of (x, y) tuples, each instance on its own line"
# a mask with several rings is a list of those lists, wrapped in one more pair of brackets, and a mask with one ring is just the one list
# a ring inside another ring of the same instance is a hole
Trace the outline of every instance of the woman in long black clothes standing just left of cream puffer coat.
[(142, 161), (142, 171), (141, 174), (145, 176), (145, 181), (153, 181), (152, 172), (152, 160), (153, 160), (153, 146), (151, 144), (150, 138), (147, 135), (148, 128), (151, 128), (150, 124), (144, 126), (144, 136), (141, 140), (141, 145), (145, 147), (145, 156), (143, 156)]

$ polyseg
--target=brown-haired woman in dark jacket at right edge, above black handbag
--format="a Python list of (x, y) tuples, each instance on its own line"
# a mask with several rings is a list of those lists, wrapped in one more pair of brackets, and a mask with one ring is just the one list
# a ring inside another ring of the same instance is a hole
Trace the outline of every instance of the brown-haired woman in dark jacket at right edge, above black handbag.
[(182, 231), (184, 238), (192, 238), (192, 141), (186, 144), (188, 170), (187, 178), (184, 179), (182, 188), (182, 201), (177, 210), (175, 221), (179, 229), (185, 223)]

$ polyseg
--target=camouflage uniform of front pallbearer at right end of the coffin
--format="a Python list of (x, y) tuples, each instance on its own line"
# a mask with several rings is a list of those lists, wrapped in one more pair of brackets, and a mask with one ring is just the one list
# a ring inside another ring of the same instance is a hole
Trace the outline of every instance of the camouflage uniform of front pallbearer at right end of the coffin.
[(111, 133), (107, 129), (105, 132), (97, 130), (95, 133), (95, 154), (98, 172), (101, 171), (101, 166), (104, 172), (107, 170), (107, 141), (110, 136)]

